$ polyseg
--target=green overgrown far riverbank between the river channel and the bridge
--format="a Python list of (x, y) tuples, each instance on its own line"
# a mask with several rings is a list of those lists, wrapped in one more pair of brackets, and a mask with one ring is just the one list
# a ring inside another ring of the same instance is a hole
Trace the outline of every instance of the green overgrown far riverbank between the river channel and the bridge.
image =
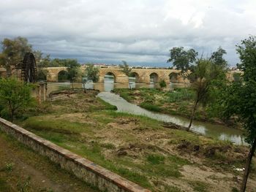
[[(174, 88), (171, 91), (162, 91), (157, 88), (115, 88), (113, 93), (146, 110), (167, 115), (180, 115), (186, 118), (190, 118), (196, 94), (192, 88)], [(214, 103), (200, 104), (195, 111), (195, 120), (240, 128), (235, 119), (220, 118), (214, 111)]]

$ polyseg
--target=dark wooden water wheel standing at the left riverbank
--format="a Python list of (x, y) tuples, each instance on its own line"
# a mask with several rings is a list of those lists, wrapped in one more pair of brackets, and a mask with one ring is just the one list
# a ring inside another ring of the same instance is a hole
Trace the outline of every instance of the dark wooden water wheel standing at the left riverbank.
[(37, 63), (33, 53), (26, 53), (21, 64), (21, 77), (25, 82), (36, 82)]

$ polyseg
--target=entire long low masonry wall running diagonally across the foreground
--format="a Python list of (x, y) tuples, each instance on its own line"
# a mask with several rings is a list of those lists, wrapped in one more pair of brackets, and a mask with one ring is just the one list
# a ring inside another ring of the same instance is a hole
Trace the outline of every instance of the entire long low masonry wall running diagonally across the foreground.
[(96, 186), (100, 191), (149, 192), (140, 187), (140, 185), (132, 183), (118, 174), (110, 172), (102, 166), (82, 158), (80, 155), (65, 150), (2, 118), (0, 118), (0, 130), (12, 135), (12, 137), (15, 137), (15, 139), (23, 142), (23, 144), (31, 147), (41, 155), (47, 156), (51, 161), (59, 164), (61, 168), (72, 172), (72, 174), (75, 174), (86, 183)]

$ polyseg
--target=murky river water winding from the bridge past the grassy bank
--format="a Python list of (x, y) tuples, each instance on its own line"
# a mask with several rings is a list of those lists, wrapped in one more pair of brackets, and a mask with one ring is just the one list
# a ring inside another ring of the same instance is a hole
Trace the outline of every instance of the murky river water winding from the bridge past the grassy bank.
[[(130, 86), (132, 88), (157, 88), (159, 85), (154, 83), (147, 85), (147, 84), (138, 84), (138, 83), (132, 82), (130, 83)], [(59, 90), (60, 88), (63, 88), (63, 87), (70, 87), (70, 83), (69, 82), (48, 83), (48, 93), (50, 93), (51, 91)], [(75, 83), (74, 87), (82, 88), (83, 85), (81, 83)], [(161, 120), (164, 122), (176, 123), (180, 126), (189, 125), (189, 119), (187, 118), (174, 116), (174, 115), (165, 115), (157, 112), (150, 112), (141, 107), (138, 107), (135, 104), (131, 104), (127, 102), (126, 100), (122, 99), (120, 96), (114, 93), (110, 93), (110, 91), (113, 90), (113, 88), (128, 88), (128, 87), (129, 85), (113, 83), (113, 79), (111, 77), (105, 78), (105, 83), (86, 84), (86, 88), (94, 88), (99, 90), (100, 91), (100, 93), (98, 94), (99, 98), (103, 99), (104, 101), (107, 101), (110, 104), (115, 105), (118, 108), (118, 112), (128, 112), (134, 115), (145, 115), (149, 118)], [(184, 87), (184, 85), (171, 83), (168, 88), (172, 89), (177, 87)], [(199, 133), (199, 134), (203, 134), (207, 137), (227, 140), (227, 141), (233, 142), (236, 145), (246, 145), (246, 142), (244, 142), (244, 137), (242, 136), (243, 132), (236, 128), (230, 128), (227, 126), (222, 126), (222, 125), (212, 124), (212, 123), (205, 123), (205, 122), (194, 120), (194, 122), (192, 123), (191, 129), (192, 131), (195, 131), (196, 133)]]

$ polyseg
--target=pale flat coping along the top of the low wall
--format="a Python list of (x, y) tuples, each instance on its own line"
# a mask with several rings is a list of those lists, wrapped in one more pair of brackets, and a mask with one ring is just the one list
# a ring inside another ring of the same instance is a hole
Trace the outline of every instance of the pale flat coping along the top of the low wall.
[[(69, 159), (69, 161), (74, 162), (82, 166), (83, 168), (94, 172), (94, 174), (99, 175), (99, 177), (103, 177), (105, 180), (110, 181), (114, 185), (117, 185), (119, 188), (123, 189), (124, 191), (131, 191), (131, 192), (150, 192), (149, 190), (142, 188), (140, 185), (132, 183), (131, 181), (125, 179), (124, 177), (119, 176), (116, 173), (110, 172), (108, 169), (103, 168), (94, 162), (89, 161), (86, 158), (81, 157), (75, 153), (72, 153), (69, 150), (64, 149), (63, 147), (59, 147), (58, 145), (54, 144), (53, 142), (48, 141), (47, 139), (43, 139), (42, 137), (38, 137), (36, 134), (27, 131), (20, 126), (17, 126), (10, 121), (4, 120), (0, 118), (0, 126), (5, 126), (11, 128), (13, 131), (22, 134), (23, 136), (29, 137), (29, 139), (34, 140), (34, 142), (39, 143), (47, 147), (50, 150), (53, 150), (55, 153), (63, 156), (64, 158)], [(0, 128), (1, 129), (1, 128)], [(4, 130), (3, 130), (4, 131)]]

